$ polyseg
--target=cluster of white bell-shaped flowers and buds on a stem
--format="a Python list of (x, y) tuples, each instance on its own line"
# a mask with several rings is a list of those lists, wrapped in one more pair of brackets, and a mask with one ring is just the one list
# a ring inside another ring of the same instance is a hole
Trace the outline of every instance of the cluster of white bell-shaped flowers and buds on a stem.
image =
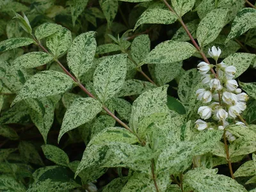
[[(209, 87), (196, 90), (196, 99), (202, 100), (204, 103), (211, 102), (207, 106), (198, 108), (198, 114), (203, 119), (196, 120), (196, 128), (199, 131), (214, 129), (214, 127), (218, 127), (220, 130), (225, 129), (228, 125), (227, 119), (236, 119), (246, 109), (245, 102), (248, 100), (248, 95), (237, 88), (237, 81), (233, 79), (236, 67), (217, 62), (221, 49), (213, 46), (211, 50), (209, 49), (208, 54), (216, 61), (216, 65), (209, 65), (203, 61), (197, 66), (202, 75), (202, 83), (208, 84)], [(216, 74), (209, 74), (210, 70), (214, 70), (213, 68), (215, 68)], [(218, 125), (204, 121), (211, 117), (218, 121)], [(237, 122), (237, 124), (244, 125), (243, 122)], [(234, 140), (232, 135), (227, 135), (228, 137)]]

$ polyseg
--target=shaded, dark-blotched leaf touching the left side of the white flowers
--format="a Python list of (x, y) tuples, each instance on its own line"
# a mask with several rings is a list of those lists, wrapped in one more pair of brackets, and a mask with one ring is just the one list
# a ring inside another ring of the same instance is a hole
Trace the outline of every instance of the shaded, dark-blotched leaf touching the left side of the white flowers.
[(196, 95), (194, 91), (196, 91), (195, 87), (198, 83), (200, 83), (200, 74), (196, 68), (187, 70), (184, 73), (178, 86), (178, 95), (182, 103), (189, 103), (191, 97)]

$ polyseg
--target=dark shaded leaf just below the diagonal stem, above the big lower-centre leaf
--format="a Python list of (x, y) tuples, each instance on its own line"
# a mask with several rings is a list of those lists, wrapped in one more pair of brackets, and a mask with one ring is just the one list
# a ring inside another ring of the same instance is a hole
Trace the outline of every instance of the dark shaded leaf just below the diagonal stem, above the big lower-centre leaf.
[(107, 127), (114, 127), (115, 123), (116, 123), (116, 120), (109, 115), (99, 116), (98, 118), (96, 118), (91, 128), (91, 132), (92, 132), (91, 137), (95, 136), (96, 134), (98, 134), (103, 129), (106, 129)]

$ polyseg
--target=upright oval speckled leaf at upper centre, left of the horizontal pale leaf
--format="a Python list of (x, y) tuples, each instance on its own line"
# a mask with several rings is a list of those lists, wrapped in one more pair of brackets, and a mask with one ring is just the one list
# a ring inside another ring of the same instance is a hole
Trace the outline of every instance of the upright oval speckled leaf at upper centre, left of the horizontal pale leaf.
[(139, 35), (134, 38), (131, 44), (131, 55), (137, 64), (142, 61), (150, 52), (150, 38), (148, 35)]

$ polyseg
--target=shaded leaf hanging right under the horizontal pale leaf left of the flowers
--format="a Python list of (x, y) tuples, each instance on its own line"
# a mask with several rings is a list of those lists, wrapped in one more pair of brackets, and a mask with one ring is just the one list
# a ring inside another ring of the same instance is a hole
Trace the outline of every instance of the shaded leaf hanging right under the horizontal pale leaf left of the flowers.
[(160, 86), (169, 83), (175, 77), (179, 76), (182, 68), (182, 62), (175, 63), (163, 63), (156, 65), (154, 68), (154, 74)]

